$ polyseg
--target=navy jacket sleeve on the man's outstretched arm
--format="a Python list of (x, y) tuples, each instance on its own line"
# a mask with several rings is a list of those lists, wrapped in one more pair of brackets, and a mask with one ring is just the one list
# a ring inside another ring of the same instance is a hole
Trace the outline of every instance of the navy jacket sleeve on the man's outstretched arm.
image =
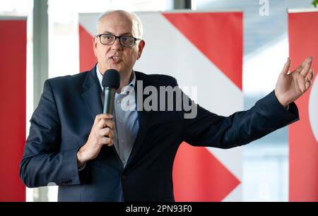
[(233, 148), (245, 145), (272, 131), (298, 121), (298, 108), (285, 109), (271, 92), (247, 111), (218, 116), (197, 105), (197, 115), (184, 119), (185, 141), (195, 146)]

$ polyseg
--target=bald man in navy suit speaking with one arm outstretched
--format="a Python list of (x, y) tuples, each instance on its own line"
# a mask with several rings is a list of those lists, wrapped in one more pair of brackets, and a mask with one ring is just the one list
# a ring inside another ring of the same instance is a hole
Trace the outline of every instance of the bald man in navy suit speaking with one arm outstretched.
[[(182, 141), (233, 148), (298, 120), (293, 101), (310, 88), (311, 58), (290, 74), (288, 59), (273, 92), (252, 109), (228, 117), (199, 105), (193, 118), (185, 118), (184, 109), (137, 109), (140, 81), (156, 90), (177, 86), (170, 76), (133, 71), (145, 46), (141, 34), (133, 13), (105, 13), (93, 37), (97, 66), (45, 82), (20, 162), (26, 186), (54, 182), (60, 201), (173, 201), (172, 165)], [(110, 68), (121, 76), (114, 115), (101, 114), (102, 74)], [(119, 104), (127, 98), (132, 102), (124, 111)]]

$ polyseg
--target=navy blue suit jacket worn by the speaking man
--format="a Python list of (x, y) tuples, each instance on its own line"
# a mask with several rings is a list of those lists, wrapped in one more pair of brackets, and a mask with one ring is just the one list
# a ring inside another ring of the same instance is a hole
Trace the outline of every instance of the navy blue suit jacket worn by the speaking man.
[[(136, 72), (143, 87), (177, 85), (175, 78)], [(78, 172), (76, 153), (102, 113), (100, 83), (92, 71), (45, 82), (20, 162), (28, 187), (59, 185), (59, 201), (173, 201), (172, 165), (182, 141), (233, 148), (298, 120), (294, 103), (286, 110), (271, 92), (252, 109), (218, 116), (199, 107), (194, 119), (183, 112), (139, 111), (139, 132), (126, 167), (114, 147), (103, 147)], [(213, 98), (211, 98), (213, 100)]]

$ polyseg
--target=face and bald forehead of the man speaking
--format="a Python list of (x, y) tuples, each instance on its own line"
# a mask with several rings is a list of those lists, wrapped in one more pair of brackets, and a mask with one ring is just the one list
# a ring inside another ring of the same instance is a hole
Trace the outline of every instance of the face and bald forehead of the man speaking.
[[(98, 34), (139, 37), (136, 25), (119, 13), (110, 13), (100, 22)], [(145, 42), (136, 41), (133, 47), (123, 47), (117, 38), (112, 45), (100, 43), (99, 37), (93, 38), (94, 53), (98, 59), (100, 73), (116, 69), (122, 76), (129, 76), (137, 59), (140, 58)]]

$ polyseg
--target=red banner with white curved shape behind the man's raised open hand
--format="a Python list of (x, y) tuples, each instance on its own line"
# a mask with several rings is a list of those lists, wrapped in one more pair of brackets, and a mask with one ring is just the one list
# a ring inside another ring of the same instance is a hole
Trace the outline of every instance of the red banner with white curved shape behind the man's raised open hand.
[[(313, 56), (318, 71), (318, 12), (289, 13), (288, 33), (292, 68)], [(300, 121), (289, 128), (290, 201), (318, 201), (318, 82), (296, 102)]]

